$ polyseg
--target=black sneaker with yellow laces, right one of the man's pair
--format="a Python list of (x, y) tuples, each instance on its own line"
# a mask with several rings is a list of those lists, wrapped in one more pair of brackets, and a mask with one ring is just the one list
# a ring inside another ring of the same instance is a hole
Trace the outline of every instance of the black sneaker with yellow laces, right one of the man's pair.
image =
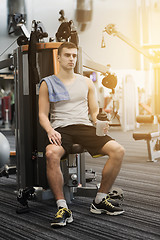
[(106, 213), (108, 215), (120, 215), (124, 213), (124, 210), (121, 207), (114, 206), (107, 200), (107, 198), (103, 198), (98, 204), (93, 201), (90, 207), (90, 212), (95, 214)]

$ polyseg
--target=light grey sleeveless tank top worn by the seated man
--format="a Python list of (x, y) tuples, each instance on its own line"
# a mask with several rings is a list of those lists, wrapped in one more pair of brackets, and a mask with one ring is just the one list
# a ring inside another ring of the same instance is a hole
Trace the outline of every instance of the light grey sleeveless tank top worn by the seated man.
[(92, 126), (88, 117), (88, 85), (86, 77), (75, 74), (75, 81), (65, 85), (70, 100), (50, 102), (50, 121), (53, 128), (84, 124)]

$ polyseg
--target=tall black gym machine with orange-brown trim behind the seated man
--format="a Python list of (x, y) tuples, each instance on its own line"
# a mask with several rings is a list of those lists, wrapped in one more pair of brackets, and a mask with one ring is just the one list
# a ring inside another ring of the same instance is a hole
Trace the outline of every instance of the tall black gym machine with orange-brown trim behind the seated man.
[[(63, 12), (62, 14), (62, 23)], [(42, 129), (38, 120), (38, 94), (40, 79), (57, 74), (58, 61), (57, 52), (60, 44), (66, 40), (65, 27), (63, 24), (57, 35), (62, 42), (40, 42), (39, 40), (46, 37), (46, 33), (39, 27), (39, 23), (33, 22), (33, 29), (29, 42), (18, 44), (19, 47), (13, 53), (13, 59), (5, 64), (14, 65), (15, 75), (15, 112), (16, 112), (16, 160), (17, 160), (17, 200), (20, 206), (17, 213), (28, 212), (28, 200), (35, 198), (44, 200), (53, 198), (49, 190), (46, 177), (46, 161), (45, 161), (45, 144), (47, 134)], [(69, 29), (72, 33), (72, 29)], [(73, 32), (74, 33), (74, 32)], [(75, 34), (75, 33), (74, 33)], [(62, 37), (61, 37), (62, 36)], [(25, 38), (26, 39), (26, 38)], [(70, 39), (70, 37), (69, 37)], [(77, 36), (72, 35), (71, 39)], [(27, 37), (27, 41), (28, 41)], [(29, 44), (25, 44), (29, 43)], [(77, 42), (78, 44), (78, 42)], [(82, 53), (81, 48), (78, 51), (78, 61), (75, 68), (77, 73), (82, 74)], [(7, 65), (7, 66), (8, 66)], [(89, 64), (88, 64), (89, 65)], [(97, 66), (97, 64), (93, 64)], [(6, 66), (6, 65), (5, 65)], [(95, 69), (90, 67), (91, 69)], [(103, 68), (103, 67), (102, 67)], [(101, 71), (100, 71), (101, 72)], [(106, 73), (106, 71), (104, 71)], [(106, 87), (111, 82), (105, 79)], [(115, 85), (115, 84), (114, 84)], [(62, 159), (61, 168), (64, 175), (64, 193), (67, 202), (71, 202), (74, 195), (95, 196), (98, 186), (86, 187), (86, 171), (85, 171), (85, 152), (82, 146), (74, 144), (72, 151), (67, 159)], [(95, 178), (95, 172), (88, 172), (91, 175), (90, 180)], [(123, 191), (114, 188), (110, 191), (112, 197), (122, 198)]]

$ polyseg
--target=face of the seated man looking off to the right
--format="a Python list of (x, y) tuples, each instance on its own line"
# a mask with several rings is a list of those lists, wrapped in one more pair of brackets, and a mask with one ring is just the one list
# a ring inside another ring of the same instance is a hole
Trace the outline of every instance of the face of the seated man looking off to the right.
[(61, 54), (58, 55), (60, 66), (65, 69), (74, 69), (77, 61), (76, 48), (63, 48)]

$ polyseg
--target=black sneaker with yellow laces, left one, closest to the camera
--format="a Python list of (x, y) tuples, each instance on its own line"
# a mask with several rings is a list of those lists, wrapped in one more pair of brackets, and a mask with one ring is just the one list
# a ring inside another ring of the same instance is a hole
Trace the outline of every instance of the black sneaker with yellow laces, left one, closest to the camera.
[(73, 222), (72, 212), (67, 208), (59, 208), (58, 212), (55, 215), (51, 227), (54, 226), (65, 226), (67, 223)]

